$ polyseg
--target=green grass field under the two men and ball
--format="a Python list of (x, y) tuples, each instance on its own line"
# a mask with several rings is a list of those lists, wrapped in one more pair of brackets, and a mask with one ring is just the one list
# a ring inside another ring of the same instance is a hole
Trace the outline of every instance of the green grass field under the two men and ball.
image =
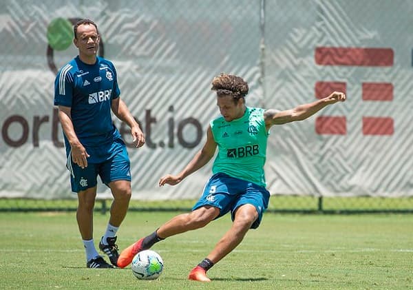
[[(118, 231), (125, 248), (177, 212), (130, 212)], [(108, 215), (95, 213), (95, 240)], [(75, 213), (0, 214), (0, 289), (413, 289), (413, 215), (267, 213), (259, 229), (209, 272), (187, 275), (231, 225), (229, 216), (153, 247), (158, 280), (131, 269), (87, 269)]]

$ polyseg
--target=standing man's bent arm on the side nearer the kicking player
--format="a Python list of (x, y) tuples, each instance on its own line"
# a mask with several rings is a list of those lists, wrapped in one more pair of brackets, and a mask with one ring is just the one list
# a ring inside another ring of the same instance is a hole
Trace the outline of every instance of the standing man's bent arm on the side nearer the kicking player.
[(127, 105), (120, 97), (112, 100), (112, 112), (120, 121), (125, 122), (131, 128), (132, 142), (136, 144), (136, 147), (142, 147), (145, 144), (145, 136), (134, 116), (129, 112)]

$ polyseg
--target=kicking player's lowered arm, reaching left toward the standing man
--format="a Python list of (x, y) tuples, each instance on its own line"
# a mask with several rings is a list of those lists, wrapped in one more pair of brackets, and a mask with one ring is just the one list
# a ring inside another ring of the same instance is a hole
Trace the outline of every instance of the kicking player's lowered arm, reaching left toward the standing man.
[(167, 176), (163, 176), (159, 180), (159, 186), (169, 184), (169, 185), (176, 185), (180, 183), (184, 178), (192, 174), (193, 172), (197, 171), (207, 163), (215, 154), (215, 149), (217, 147), (217, 143), (213, 139), (211, 126), (207, 130), (207, 141), (204, 144), (204, 147), (200, 149), (200, 151), (193, 156), (192, 160), (189, 161), (188, 165), (176, 176), (172, 176), (168, 174)]

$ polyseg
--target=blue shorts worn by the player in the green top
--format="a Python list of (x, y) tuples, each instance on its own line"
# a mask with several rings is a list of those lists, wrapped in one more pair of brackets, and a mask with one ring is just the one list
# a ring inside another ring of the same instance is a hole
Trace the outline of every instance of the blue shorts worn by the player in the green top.
[(262, 214), (268, 207), (270, 193), (264, 187), (246, 180), (231, 177), (224, 173), (214, 174), (204, 187), (204, 193), (192, 210), (211, 205), (218, 207), (220, 214), (217, 218), (231, 211), (234, 220), (235, 211), (242, 205), (253, 205), (257, 209), (258, 218), (251, 229), (256, 229), (262, 220)]

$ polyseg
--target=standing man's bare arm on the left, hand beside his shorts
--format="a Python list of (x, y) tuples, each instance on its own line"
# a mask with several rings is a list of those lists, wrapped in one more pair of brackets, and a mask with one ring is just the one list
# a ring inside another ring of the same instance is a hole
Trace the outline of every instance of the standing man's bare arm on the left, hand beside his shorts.
[(89, 154), (87, 154), (85, 147), (83, 147), (76, 132), (74, 132), (71, 112), (72, 110), (70, 107), (59, 105), (59, 120), (67, 141), (70, 143), (72, 160), (80, 167), (85, 168), (87, 167), (87, 157), (89, 157)]

